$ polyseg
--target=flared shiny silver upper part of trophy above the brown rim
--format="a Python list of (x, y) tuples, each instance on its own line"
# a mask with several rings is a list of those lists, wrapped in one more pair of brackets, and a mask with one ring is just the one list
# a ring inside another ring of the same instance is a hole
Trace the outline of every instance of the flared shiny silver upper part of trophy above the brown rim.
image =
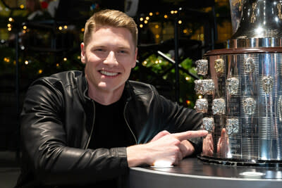
[(228, 48), (282, 46), (281, 0), (231, 0), (231, 5), (236, 32)]

